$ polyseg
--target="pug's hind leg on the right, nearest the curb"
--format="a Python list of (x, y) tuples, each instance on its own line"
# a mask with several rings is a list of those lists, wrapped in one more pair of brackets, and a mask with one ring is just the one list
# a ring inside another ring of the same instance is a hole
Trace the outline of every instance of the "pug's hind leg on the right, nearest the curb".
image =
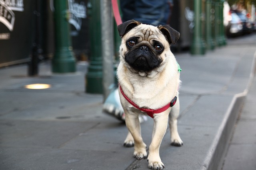
[(169, 126), (171, 133), (171, 145), (180, 147), (183, 145), (180, 135), (178, 133), (177, 118), (180, 113), (180, 100), (177, 98), (176, 104), (172, 107), (169, 117)]

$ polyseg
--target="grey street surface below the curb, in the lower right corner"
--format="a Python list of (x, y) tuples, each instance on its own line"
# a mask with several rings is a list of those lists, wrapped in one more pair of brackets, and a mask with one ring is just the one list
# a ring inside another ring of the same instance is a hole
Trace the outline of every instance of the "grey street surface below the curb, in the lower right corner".
[(256, 79), (246, 96), (222, 170), (256, 169)]

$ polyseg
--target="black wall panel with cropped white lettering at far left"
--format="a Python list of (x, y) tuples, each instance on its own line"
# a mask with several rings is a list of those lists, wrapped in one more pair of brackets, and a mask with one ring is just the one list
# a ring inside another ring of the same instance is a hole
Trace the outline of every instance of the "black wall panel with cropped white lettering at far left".
[(0, 0), (0, 67), (28, 61), (34, 0)]

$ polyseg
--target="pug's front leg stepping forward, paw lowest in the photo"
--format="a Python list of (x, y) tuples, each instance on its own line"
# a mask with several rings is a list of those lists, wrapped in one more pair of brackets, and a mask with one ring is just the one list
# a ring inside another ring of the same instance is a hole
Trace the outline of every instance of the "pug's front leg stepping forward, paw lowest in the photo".
[(164, 134), (166, 133), (169, 111), (170, 109), (167, 109), (163, 113), (159, 113), (154, 117), (152, 141), (149, 146), (148, 154), (148, 168), (150, 169), (162, 170), (164, 168), (164, 164), (162, 163), (159, 155), (159, 148)]

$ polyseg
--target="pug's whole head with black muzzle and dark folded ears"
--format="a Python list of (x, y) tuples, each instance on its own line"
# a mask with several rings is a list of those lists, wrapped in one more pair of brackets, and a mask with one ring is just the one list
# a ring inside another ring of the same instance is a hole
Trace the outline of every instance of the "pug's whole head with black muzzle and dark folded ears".
[(170, 54), (170, 44), (180, 36), (168, 25), (155, 27), (134, 20), (118, 25), (118, 31), (122, 37), (121, 61), (140, 73), (158, 69)]

